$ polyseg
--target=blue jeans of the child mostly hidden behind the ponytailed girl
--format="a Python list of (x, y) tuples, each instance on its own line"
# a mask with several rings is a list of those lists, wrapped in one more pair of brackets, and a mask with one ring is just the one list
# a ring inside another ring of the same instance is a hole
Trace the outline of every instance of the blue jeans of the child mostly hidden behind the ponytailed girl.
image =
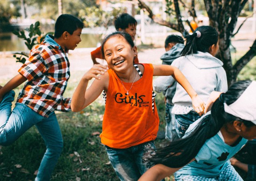
[(166, 103), (165, 106), (165, 139), (170, 141), (177, 137), (177, 132), (175, 131), (175, 114), (172, 114), (173, 105)]

